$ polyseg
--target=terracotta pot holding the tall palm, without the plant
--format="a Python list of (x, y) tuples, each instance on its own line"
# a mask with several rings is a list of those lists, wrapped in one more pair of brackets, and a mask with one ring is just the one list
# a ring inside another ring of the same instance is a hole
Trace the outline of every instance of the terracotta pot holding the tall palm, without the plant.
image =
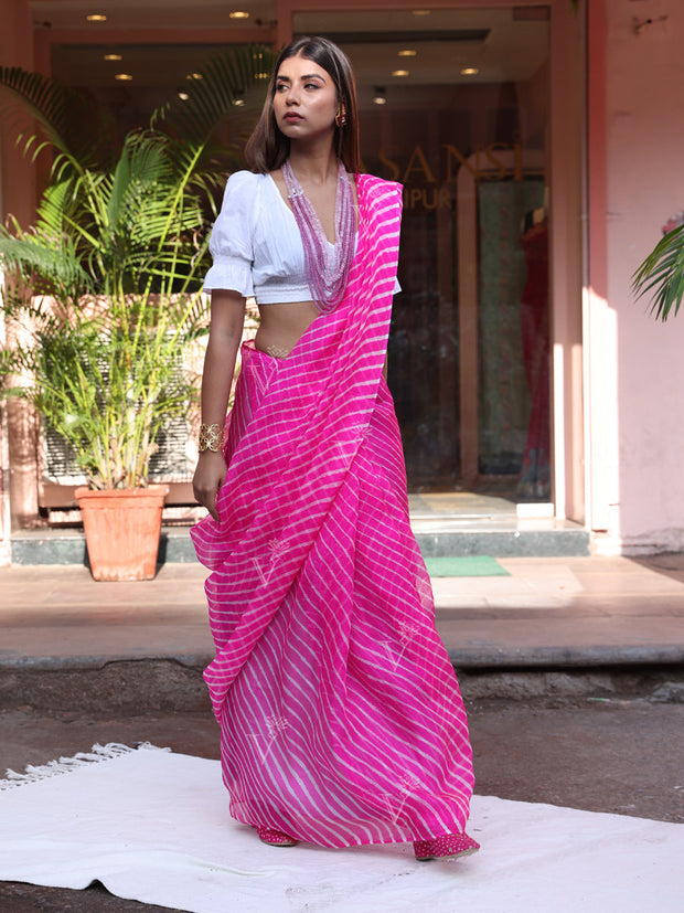
[(77, 488), (95, 580), (152, 580), (157, 570), (165, 485), (92, 491)]

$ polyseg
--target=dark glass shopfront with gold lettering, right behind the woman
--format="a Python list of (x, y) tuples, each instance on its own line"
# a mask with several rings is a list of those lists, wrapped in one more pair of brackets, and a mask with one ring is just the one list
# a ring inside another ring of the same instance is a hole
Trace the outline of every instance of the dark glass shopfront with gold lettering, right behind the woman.
[(409, 490), (551, 496), (545, 7), (296, 13), (357, 79), (366, 170), (404, 184), (388, 381)]

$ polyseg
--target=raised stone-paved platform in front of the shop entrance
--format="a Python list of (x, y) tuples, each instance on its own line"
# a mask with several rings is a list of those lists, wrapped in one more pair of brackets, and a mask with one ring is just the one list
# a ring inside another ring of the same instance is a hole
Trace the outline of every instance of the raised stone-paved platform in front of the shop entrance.
[[(435, 577), (459, 668), (684, 662), (684, 555), (500, 559), (507, 577)], [(78, 565), (0, 569), (0, 670), (213, 656), (199, 564), (96, 583)]]

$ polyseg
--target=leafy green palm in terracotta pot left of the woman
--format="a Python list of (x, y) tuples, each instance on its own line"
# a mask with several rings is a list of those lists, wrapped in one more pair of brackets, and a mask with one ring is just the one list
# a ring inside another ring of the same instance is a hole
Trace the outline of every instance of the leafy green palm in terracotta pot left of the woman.
[(215, 213), (231, 164), (232, 150), (212, 137), (265, 53), (214, 59), (184, 100), (129, 132), (116, 157), (103, 141), (106, 118), (84, 121), (87, 103), (39, 74), (0, 70), (0, 85), (42, 125), (26, 148), (49, 145), (54, 156), (34, 224), (0, 229), (0, 261), (13, 277), (2, 395), (30, 400), (68, 442), (88, 482), (76, 496), (96, 580), (156, 571), (165, 490), (148, 484), (149, 461), (164, 424), (186, 416), (196, 395), (183, 353), (207, 329), (199, 293), (206, 212)]

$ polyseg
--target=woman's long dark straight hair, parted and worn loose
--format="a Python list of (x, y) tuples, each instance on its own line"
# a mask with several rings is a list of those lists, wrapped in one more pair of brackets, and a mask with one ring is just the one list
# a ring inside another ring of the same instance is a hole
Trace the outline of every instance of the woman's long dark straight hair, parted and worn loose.
[(359, 108), (356, 105), (356, 83), (354, 73), (346, 54), (336, 44), (327, 38), (298, 38), (285, 47), (278, 55), (276, 66), (270, 77), (268, 93), (261, 116), (245, 146), (247, 167), (257, 173), (266, 173), (280, 168), (290, 153), (290, 140), (280, 132), (274, 116), (274, 96), (276, 94), (276, 77), (282, 61), (296, 57), (298, 54), (313, 61), (332, 78), (336, 93), (338, 104), (344, 106), (346, 123), (339, 127), (335, 124), (333, 148), (338, 158), (346, 170), (353, 174), (362, 171), (361, 152), (359, 150)]

